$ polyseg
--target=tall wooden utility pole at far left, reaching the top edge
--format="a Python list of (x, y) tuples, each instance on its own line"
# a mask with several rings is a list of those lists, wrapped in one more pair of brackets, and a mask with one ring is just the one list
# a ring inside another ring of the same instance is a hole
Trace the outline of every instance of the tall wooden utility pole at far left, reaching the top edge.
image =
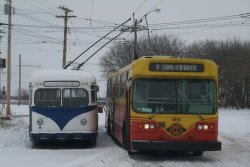
[(6, 117), (10, 117), (12, 0), (9, 0)]

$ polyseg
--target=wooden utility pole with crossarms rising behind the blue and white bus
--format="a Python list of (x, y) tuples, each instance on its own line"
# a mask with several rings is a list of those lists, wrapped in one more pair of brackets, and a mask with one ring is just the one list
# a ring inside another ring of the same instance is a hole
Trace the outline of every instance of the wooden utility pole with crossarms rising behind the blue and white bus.
[(76, 16), (68, 16), (69, 12), (73, 12), (72, 10), (65, 8), (63, 6), (59, 7), (60, 9), (64, 10), (64, 16), (56, 16), (57, 18), (64, 18), (64, 40), (63, 40), (63, 62), (62, 67), (66, 64), (66, 54), (67, 54), (67, 32), (68, 32), (68, 18), (76, 17)]

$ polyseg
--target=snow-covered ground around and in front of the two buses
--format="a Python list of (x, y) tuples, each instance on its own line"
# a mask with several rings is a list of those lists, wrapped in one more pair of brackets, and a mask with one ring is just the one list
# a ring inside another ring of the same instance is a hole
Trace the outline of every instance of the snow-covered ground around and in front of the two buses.
[[(12, 106), (13, 115), (28, 114), (28, 106)], [(76, 144), (32, 148), (28, 117), (0, 125), (1, 167), (247, 167), (250, 158), (250, 110), (220, 110), (222, 151), (191, 154), (138, 154), (130, 157), (106, 134), (104, 114), (99, 114), (99, 135), (94, 147)]]

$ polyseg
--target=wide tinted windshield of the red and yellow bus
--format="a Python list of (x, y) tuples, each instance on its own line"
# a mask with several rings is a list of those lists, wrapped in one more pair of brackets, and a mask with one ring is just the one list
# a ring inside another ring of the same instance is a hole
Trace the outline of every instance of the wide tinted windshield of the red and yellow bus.
[(154, 114), (213, 114), (216, 83), (201, 79), (137, 79), (133, 109)]

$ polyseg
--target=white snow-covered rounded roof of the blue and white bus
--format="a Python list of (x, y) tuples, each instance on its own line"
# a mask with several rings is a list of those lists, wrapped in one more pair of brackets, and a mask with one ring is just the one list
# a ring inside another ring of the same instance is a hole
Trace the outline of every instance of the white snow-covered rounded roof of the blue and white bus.
[(89, 81), (95, 82), (94, 75), (86, 71), (76, 70), (39, 70), (31, 74), (31, 82), (34, 81)]

